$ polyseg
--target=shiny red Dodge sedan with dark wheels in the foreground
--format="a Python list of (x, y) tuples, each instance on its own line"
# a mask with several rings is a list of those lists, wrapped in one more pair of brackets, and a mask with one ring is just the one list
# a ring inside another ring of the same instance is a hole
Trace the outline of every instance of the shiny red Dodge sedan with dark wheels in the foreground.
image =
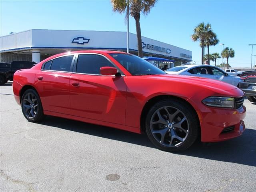
[(235, 86), (166, 74), (124, 52), (76, 51), (51, 56), (14, 74), (25, 118), (45, 115), (146, 132), (166, 151), (185, 150), (200, 136), (218, 142), (245, 129), (244, 93)]

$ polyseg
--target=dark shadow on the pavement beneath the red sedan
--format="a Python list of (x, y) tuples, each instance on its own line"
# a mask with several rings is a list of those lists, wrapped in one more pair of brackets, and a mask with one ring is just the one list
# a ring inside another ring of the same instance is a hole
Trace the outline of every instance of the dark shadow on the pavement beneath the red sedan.
[[(146, 134), (136, 134), (115, 128), (98, 126), (53, 116), (47, 116), (45, 120), (40, 122), (40, 124), (156, 148), (150, 142)], [(197, 141), (187, 150), (176, 154), (256, 166), (256, 130), (246, 129), (242, 136), (224, 142), (206, 144)]]

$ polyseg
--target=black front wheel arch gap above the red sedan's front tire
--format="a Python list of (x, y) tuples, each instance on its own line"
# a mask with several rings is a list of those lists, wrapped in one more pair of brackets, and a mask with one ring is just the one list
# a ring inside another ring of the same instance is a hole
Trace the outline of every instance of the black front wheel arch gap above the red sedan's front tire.
[[(148, 111), (150, 110), (150, 108), (156, 104), (158, 101), (160, 100), (164, 100), (164, 99), (176, 99), (176, 100), (180, 100), (186, 104), (188, 104), (191, 109), (193, 110), (193, 112), (196, 114), (197, 120), (198, 120), (198, 124), (200, 126), (200, 120), (199, 120), (199, 116), (198, 113), (196, 112), (195, 108), (192, 106), (192, 104), (190, 104), (188, 101), (186, 101), (184, 98), (178, 97), (178, 96), (173, 96), (173, 95), (158, 95), (158, 96), (154, 96), (152, 98), (150, 98), (146, 104), (144, 105), (141, 115), (140, 115), (140, 130), (142, 133), (145, 132), (145, 121), (146, 121), (146, 116), (148, 114)], [(201, 134), (201, 128), (199, 128), (199, 134)]]

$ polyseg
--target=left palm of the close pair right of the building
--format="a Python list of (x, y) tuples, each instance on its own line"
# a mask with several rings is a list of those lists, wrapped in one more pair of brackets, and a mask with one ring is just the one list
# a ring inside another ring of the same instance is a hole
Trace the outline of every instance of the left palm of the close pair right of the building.
[(208, 32), (211, 31), (211, 24), (207, 23), (204, 25), (204, 22), (198, 24), (196, 28), (194, 28), (194, 34), (192, 34), (191, 38), (193, 41), (200, 41), (202, 47), (202, 65), (204, 64), (204, 46), (205, 41), (207, 39)]

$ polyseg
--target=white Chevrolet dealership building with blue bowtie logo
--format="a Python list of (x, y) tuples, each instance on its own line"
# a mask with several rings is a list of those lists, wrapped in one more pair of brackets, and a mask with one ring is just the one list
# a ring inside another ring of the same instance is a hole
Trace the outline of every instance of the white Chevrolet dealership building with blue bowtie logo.
[[(126, 52), (126, 32), (31, 29), (0, 37), (0, 62), (40, 62), (54, 54), (75, 50), (118, 50)], [(138, 55), (136, 34), (129, 34), (129, 52)], [(192, 53), (142, 36), (144, 56), (190, 62)]]

